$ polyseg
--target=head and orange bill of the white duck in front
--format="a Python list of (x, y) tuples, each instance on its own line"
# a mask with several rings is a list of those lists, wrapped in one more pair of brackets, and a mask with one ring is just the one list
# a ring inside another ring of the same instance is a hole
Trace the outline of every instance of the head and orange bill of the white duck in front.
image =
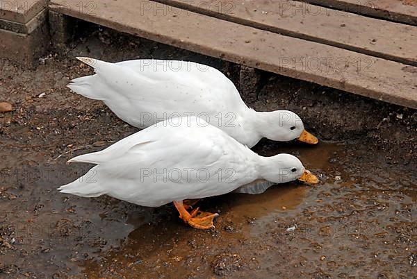
[(318, 183), (318, 178), (306, 170), (297, 157), (290, 154), (261, 157), (260, 166), (261, 178), (272, 183), (286, 183), (297, 179), (309, 184)]

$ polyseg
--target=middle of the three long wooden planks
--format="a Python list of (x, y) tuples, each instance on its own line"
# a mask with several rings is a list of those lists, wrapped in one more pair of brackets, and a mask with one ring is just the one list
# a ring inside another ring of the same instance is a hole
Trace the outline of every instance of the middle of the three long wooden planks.
[(300, 1), (156, 1), (291, 37), (417, 66), (416, 26), (363, 17)]

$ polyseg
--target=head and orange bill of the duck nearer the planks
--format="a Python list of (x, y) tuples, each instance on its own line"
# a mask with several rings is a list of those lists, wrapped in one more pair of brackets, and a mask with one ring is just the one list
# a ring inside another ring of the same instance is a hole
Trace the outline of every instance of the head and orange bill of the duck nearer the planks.
[(301, 118), (289, 110), (256, 112), (258, 123), (256, 130), (263, 137), (277, 142), (299, 140), (308, 144), (317, 144), (318, 139), (304, 129)]

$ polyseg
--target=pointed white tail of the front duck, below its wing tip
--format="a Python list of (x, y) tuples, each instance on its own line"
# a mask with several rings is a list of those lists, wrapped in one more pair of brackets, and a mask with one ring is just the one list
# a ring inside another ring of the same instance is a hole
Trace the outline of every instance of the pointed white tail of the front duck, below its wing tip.
[(58, 190), (64, 194), (73, 194), (76, 196), (84, 196), (86, 198), (94, 198), (96, 196), (106, 194), (106, 190), (101, 187), (95, 177), (96, 174), (95, 168), (92, 168), (87, 174), (81, 176), (72, 183), (59, 187)]

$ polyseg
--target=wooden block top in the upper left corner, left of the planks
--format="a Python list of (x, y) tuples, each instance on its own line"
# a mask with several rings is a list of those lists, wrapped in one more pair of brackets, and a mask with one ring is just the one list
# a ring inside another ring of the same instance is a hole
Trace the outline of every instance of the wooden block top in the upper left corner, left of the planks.
[(46, 0), (0, 0), (0, 19), (26, 24), (44, 10)]

